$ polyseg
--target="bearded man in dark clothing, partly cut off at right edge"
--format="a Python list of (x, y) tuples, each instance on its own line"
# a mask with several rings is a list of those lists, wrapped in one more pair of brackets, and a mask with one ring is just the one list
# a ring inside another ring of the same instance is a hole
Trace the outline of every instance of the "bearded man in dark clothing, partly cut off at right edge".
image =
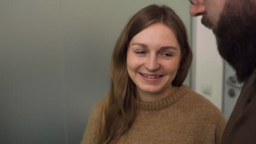
[(190, 14), (216, 35), (218, 51), (245, 82), (222, 143), (256, 143), (256, 0), (190, 0)]

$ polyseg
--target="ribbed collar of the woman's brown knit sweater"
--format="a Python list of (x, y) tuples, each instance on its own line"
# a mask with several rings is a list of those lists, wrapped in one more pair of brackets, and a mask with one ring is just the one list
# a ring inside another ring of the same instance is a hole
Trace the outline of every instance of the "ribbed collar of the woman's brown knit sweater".
[(176, 103), (180, 98), (183, 97), (186, 93), (188, 93), (189, 87), (186, 85), (182, 85), (181, 87), (177, 88), (176, 91), (168, 95), (168, 97), (154, 101), (154, 102), (144, 102), (141, 100), (136, 99), (136, 107), (137, 109), (142, 109), (146, 111), (155, 111), (165, 109), (168, 106)]

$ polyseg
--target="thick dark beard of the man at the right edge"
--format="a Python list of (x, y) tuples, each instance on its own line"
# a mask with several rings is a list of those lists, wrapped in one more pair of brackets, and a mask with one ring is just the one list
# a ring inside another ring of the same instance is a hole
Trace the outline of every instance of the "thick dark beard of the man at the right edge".
[(220, 14), (216, 29), (218, 51), (245, 81), (256, 68), (256, 2), (229, 0)]

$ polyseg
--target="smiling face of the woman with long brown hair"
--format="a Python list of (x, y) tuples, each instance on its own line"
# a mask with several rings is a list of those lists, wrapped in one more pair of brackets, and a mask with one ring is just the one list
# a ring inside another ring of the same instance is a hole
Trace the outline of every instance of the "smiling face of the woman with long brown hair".
[(172, 91), (180, 59), (181, 48), (172, 29), (154, 23), (130, 41), (127, 71), (138, 93), (162, 94)]

